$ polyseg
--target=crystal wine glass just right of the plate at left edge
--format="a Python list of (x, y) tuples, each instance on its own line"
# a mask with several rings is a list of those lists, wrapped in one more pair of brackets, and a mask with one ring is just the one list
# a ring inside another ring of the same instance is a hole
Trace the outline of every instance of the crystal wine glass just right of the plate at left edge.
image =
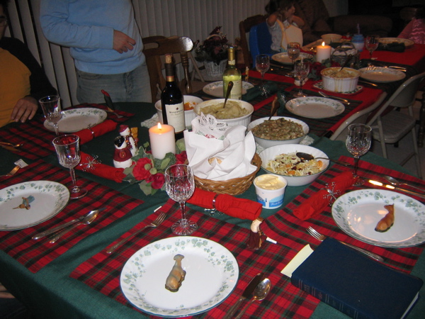
[(77, 180), (75, 179), (74, 172), (74, 167), (76, 167), (81, 160), (78, 135), (60, 135), (53, 140), (53, 145), (55, 145), (59, 163), (63, 167), (69, 168), (69, 172), (71, 173), (71, 199), (77, 199), (85, 196), (87, 194), (87, 190), (77, 186)]

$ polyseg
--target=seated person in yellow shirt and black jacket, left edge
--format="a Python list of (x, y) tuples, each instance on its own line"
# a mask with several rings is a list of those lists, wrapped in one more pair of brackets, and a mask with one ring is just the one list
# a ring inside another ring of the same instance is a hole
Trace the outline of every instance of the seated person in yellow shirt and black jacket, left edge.
[(38, 111), (38, 100), (57, 94), (28, 47), (4, 37), (7, 2), (0, 0), (0, 127), (31, 120)]

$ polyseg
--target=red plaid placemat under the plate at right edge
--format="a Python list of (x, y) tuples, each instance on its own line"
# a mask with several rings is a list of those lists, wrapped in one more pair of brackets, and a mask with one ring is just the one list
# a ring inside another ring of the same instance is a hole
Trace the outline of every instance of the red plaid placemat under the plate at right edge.
[[(341, 157), (341, 160), (346, 162), (353, 162), (353, 159), (350, 157)], [(361, 177), (368, 177), (370, 179), (381, 180), (379, 174), (388, 174), (392, 177), (400, 179), (400, 181), (409, 181), (416, 186), (424, 186), (425, 183), (421, 179), (416, 179), (416, 177), (403, 174), (392, 169), (386, 169), (375, 164), (370, 164), (368, 162), (361, 161), (358, 174)], [(300, 205), (305, 199), (312, 196), (312, 194), (317, 191), (324, 189), (327, 183), (336, 177), (341, 172), (344, 172), (352, 167), (342, 167), (341, 165), (334, 164), (333, 167), (324, 172), (316, 181), (314, 181), (305, 191), (297, 196), (291, 203), (289, 203), (285, 208), (278, 211), (266, 218), (266, 223), (261, 224), (261, 230), (273, 240), (277, 240), (280, 244), (283, 245), (293, 245), (293, 242), (300, 241), (300, 239), (310, 242), (312, 245), (319, 245), (319, 242), (313, 237), (307, 234), (306, 228), (312, 226), (319, 233), (328, 235), (341, 240), (343, 242), (348, 242), (352, 245), (356, 245), (370, 252), (374, 252), (382, 256), (385, 259), (385, 264), (390, 267), (394, 267), (404, 272), (411, 272), (414, 264), (416, 264), (419, 255), (424, 250), (424, 244), (416, 247), (407, 247), (407, 248), (387, 248), (387, 247), (378, 247), (375, 245), (369, 245), (368, 243), (361, 242), (356, 240), (353, 237), (350, 237), (341, 230), (334, 219), (331, 217), (331, 207), (328, 206), (326, 210), (315, 218), (310, 218), (309, 220), (302, 221), (293, 215), (293, 210)], [(370, 188), (370, 184), (364, 184), (363, 186), (356, 187), (353, 189), (366, 189)], [(351, 190), (353, 190), (351, 189)], [(350, 190), (350, 191), (351, 191)], [(424, 199), (416, 198), (420, 201)]]

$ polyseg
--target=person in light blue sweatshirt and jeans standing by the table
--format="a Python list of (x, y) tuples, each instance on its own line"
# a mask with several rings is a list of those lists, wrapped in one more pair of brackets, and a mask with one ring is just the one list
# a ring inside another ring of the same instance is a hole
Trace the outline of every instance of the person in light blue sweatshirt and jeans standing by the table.
[(143, 43), (131, 0), (41, 0), (47, 40), (70, 47), (80, 103), (151, 101)]

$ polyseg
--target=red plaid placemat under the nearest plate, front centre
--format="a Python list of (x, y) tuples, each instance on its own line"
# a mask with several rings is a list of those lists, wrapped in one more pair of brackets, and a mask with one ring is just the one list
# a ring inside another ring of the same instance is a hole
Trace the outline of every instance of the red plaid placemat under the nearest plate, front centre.
[[(122, 250), (115, 251), (111, 255), (106, 254), (104, 250), (99, 252), (80, 264), (70, 276), (125, 306), (134, 308), (121, 292), (120, 272), (125, 262), (137, 250), (151, 242), (174, 236), (171, 233), (171, 225), (181, 216), (179, 205), (174, 201), (167, 201), (157, 213), (123, 235), (125, 237), (151, 223), (161, 211), (168, 212), (168, 216), (159, 227), (147, 228), (126, 242)], [(306, 241), (297, 240), (291, 247), (264, 242), (260, 250), (252, 251), (246, 249), (249, 230), (191, 209), (188, 210), (188, 218), (198, 223), (198, 230), (193, 236), (208, 238), (225, 246), (234, 254), (239, 264), (239, 282), (233, 293), (223, 303), (207, 313), (197, 315), (196, 318), (222, 318), (241, 296), (251, 278), (259, 272), (265, 272), (273, 284), (272, 289), (264, 301), (253, 303), (246, 311), (246, 315), (252, 315), (254, 318), (310, 318), (319, 301), (302, 293), (300, 289), (290, 284), (289, 279), (280, 274), (280, 270), (307, 243)], [(111, 245), (115, 242), (111, 242)]]

